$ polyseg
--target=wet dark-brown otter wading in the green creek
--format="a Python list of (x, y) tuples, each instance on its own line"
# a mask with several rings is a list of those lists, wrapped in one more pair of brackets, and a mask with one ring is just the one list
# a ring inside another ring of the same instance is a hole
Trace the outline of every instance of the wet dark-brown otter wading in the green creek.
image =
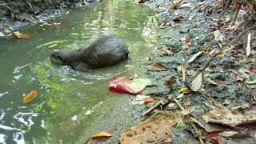
[(88, 71), (102, 66), (114, 65), (128, 58), (127, 46), (114, 34), (105, 34), (86, 49), (74, 51), (54, 51), (51, 62), (72, 67), (74, 70)]

